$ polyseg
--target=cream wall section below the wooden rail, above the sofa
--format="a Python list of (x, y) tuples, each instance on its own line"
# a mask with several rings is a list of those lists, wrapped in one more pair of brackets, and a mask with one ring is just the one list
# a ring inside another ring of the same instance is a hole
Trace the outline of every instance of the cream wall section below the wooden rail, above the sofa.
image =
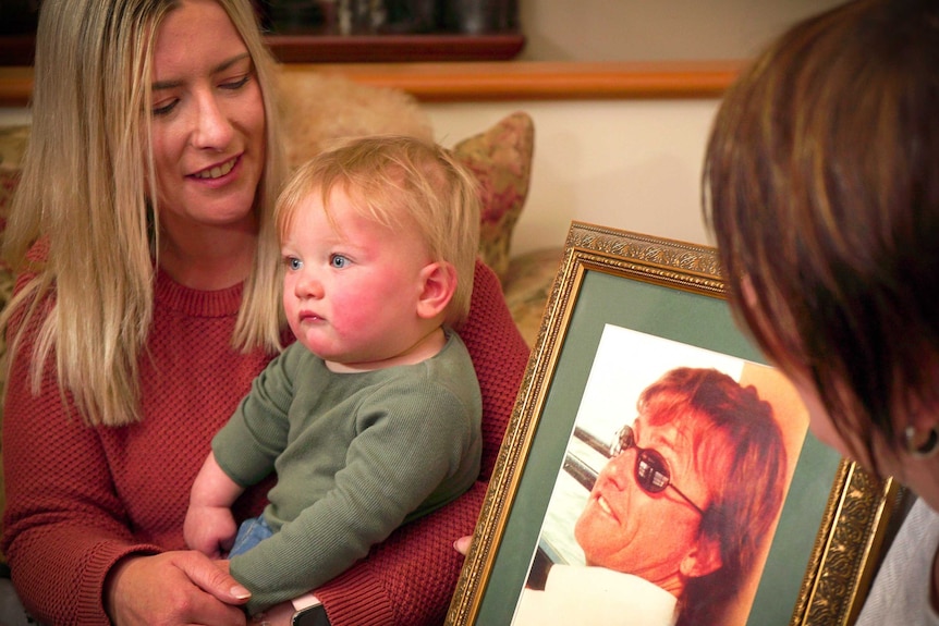
[(535, 158), (512, 249), (564, 242), (572, 220), (708, 243), (699, 177), (718, 100), (425, 105), (451, 146), (516, 110), (535, 122)]

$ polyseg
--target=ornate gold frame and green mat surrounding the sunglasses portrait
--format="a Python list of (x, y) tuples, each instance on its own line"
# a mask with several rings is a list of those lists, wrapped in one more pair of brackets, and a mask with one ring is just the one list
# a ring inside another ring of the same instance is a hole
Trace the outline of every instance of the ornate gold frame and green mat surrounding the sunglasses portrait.
[[(510, 624), (602, 328), (761, 361), (733, 323), (714, 248), (573, 222), (447, 624)], [(626, 355), (621, 363), (642, 360)], [(847, 626), (899, 498), (804, 435), (747, 625)], [(744, 622), (735, 622), (735, 624)]]

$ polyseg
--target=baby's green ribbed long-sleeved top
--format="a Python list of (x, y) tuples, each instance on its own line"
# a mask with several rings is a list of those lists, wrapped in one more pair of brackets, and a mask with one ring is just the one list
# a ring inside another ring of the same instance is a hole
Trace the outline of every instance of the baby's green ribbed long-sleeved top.
[(463, 342), (417, 365), (334, 373), (296, 343), (254, 381), (212, 441), (239, 484), (277, 471), (273, 537), (231, 561), (251, 612), (344, 572), (479, 472), (481, 401)]

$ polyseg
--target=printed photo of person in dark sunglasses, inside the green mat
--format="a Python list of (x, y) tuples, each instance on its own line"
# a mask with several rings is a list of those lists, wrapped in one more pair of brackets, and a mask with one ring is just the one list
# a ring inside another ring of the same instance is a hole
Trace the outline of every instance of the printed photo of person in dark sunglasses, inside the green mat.
[[(639, 341), (615, 330), (624, 345)], [(719, 355), (718, 369), (706, 351), (642, 341), (703, 367), (653, 370), (663, 373), (632, 397), (622, 372), (611, 377), (600, 412), (619, 420), (611, 435), (597, 434), (598, 409), (582, 401), (554, 495), (562, 484), (581, 493), (552, 496), (513, 626), (746, 622), (804, 409), (771, 368)]]

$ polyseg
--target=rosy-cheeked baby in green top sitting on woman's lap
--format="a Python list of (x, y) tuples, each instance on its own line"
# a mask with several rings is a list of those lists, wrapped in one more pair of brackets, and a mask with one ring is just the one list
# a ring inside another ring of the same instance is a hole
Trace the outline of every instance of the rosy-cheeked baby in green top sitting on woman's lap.
[[(256, 613), (341, 574), (479, 471), (481, 398), (453, 328), (478, 246), (474, 179), (443, 148), (358, 139), (301, 167), (275, 212), (296, 342), (257, 377), (193, 484), (184, 533)], [(231, 505), (277, 472), (235, 536)]]

